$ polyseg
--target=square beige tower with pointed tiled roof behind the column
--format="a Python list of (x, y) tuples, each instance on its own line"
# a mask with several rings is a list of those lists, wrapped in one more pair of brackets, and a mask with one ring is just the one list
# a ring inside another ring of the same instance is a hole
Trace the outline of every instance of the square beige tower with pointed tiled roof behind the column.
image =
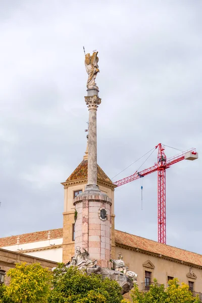
[[(88, 144), (85, 151), (83, 161), (78, 165), (69, 178), (63, 182), (64, 195), (64, 213), (63, 213), (63, 262), (71, 261), (75, 254), (75, 206), (73, 205), (74, 198), (85, 190), (87, 185), (88, 172)], [(97, 184), (100, 191), (106, 193), (111, 199), (111, 253), (115, 258), (115, 235), (114, 235), (114, 189), (116, 185), (110, 180), (105, 172), (97, 165)], [(97, 215), (98, 216), (98, 215)], [(78, 217), (78, 215), (77, 215)], [(90, 233), (98, 233), (90, 231)], [(101, 236), (101, 232), (100, 232)]]

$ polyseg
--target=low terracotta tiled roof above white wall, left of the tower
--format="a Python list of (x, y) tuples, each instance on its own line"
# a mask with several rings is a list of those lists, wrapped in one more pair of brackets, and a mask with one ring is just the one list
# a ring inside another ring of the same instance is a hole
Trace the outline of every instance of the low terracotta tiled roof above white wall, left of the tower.
[[(52, 230), (50, 230), (50, 232), (51, 232), (51, 239), (57, 239), (57, 238), (63, 237), (62, 228), (52, 229)], [(44, 231), (31, 232), (28, 234), (22, 234), (19, 236), (0, 238), (0, 247), (17, 244), (18, 237), (20, 238), (20, 244), (47, 240), (47, 236), (48, 236), (47, 233), (48, 233), (48, 230), (44, 230)]]

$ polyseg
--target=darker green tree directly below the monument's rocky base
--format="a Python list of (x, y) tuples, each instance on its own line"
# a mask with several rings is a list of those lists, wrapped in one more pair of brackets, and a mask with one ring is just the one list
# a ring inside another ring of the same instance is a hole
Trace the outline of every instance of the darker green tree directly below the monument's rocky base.
[(121, 287), (116, 281), (101, 275), (79, 271), (76, 267), (64, 268), (63, 264), (54, 271), (53, 289), (49, 303), (121, 303)]

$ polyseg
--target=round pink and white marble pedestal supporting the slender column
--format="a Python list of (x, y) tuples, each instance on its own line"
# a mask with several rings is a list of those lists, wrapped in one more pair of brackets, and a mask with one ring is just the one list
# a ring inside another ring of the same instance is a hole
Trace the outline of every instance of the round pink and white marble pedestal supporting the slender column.
[[(101, 267), (108, 267), (111, 259), (111, 201), (98, 186), (87, 185), (84, 192), (74, 199), (77, 219), (75, 222), (75, 248), (89, 252), (90, 259)], [(106, 213), (106, 218), (101, 214)]]

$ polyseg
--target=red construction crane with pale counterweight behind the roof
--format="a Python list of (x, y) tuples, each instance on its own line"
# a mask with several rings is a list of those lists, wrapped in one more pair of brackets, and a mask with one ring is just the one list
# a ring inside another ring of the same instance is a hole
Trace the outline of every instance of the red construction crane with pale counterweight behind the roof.
[(198, 158), (198, 153), (196, 153), (195, 148), (190, 148), (181, 154), (167, 159), (164, 152), (165, 145), (159, 143), (155, 148), (158, 146), (158, 161), (154, 166), (141, 172), (135, 172), (129, 177), (114, 182), (114, 184), (121, 186), (158, 171), (158, 242), (166, 244), (166, 169), (184, 159), (195, 160)]

